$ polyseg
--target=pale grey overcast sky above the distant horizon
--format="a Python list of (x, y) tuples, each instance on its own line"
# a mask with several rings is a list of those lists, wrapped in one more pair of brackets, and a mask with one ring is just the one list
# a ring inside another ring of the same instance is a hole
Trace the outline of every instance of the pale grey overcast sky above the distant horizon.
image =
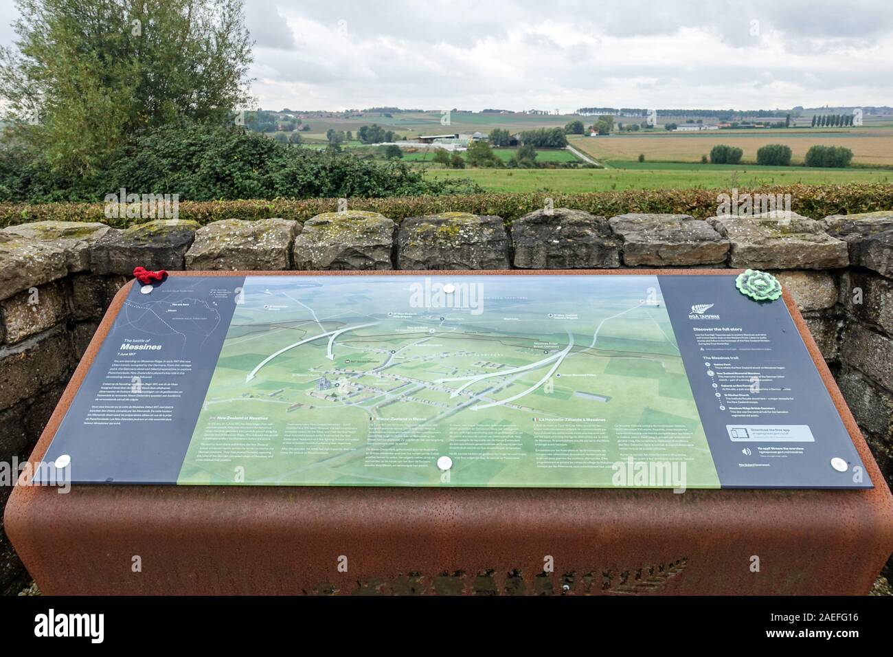
[(246, 0), (246, 21), (267, 109), (893, 105), (890, 0)]

